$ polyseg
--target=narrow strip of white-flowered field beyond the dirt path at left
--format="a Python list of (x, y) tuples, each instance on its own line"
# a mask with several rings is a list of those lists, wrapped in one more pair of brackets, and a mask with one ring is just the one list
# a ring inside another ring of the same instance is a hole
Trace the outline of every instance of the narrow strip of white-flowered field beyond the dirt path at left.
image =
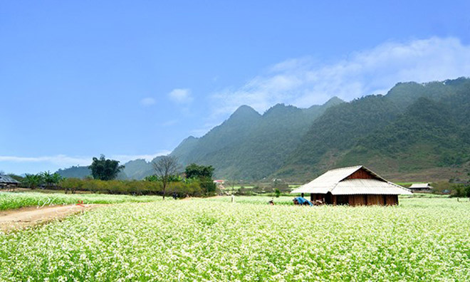
[(45, 194), (41, 192), (0, 192), (0, 211), (31, 206), (51, 206), (55, 204), (117, 204), (124, 202), (154, 202), (162, 199), (157, 196), (129, 196), (109, 194)]

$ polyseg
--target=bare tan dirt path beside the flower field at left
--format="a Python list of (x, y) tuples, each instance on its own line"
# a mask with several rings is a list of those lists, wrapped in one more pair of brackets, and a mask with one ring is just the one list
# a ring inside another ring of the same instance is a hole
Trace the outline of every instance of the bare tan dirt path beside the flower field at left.
[(88, 211), (103, 204), (71, 204), (51, 207), (23, 207), (21, 209), (0, 211), (0, 231), (11, 231), (27, 226), (43, 224), (53, 219), (63, 219), (80, 211)]

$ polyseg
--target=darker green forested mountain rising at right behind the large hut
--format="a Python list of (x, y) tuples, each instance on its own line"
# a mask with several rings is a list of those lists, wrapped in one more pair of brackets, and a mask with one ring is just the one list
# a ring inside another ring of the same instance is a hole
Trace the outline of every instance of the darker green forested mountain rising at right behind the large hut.
[(470, 79), (397, 83), (327, 110), (272, 177), (367, 164), (392, 179), (449, 179), (470, 165)]

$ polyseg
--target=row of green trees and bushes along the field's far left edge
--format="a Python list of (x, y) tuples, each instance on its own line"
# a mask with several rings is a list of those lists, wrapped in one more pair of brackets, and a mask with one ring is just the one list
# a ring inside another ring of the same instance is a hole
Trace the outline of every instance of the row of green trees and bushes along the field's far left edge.
[(105, 155), (93, 157), (89, 168), (93, 177), (85, 179), (65, 178), (58, 173), (41, 172), (26, 174), (19, 179), (21, 187), (36, 189), (63, 189), (66, 193), (77, 191), (134, 194), (174, 197), (206, 197), (214, 195), (216, 185), (212, 180), (214, 167), (189, 164), (181, 172), (176, 157), (163, 156), (152, 162), (155, 173), (144, 180), (116, 180), (117, 174), (124, 169), (117, 160), (106, 159)]

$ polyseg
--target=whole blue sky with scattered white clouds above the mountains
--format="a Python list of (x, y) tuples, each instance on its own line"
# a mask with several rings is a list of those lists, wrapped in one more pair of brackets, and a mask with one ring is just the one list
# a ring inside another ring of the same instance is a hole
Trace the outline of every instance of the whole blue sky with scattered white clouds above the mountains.
[(240, 105), (470, 76), (470, 1), (0, 0), (0, 171), (151, 160)]

